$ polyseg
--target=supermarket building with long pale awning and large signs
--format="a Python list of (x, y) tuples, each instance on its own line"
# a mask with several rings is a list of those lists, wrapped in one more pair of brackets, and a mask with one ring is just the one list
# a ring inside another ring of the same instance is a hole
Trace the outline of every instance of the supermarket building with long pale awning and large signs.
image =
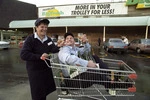
[[(126, 36), (150, 38), (150, 2), (127, 0), (126, 2), (92, 3), (39, 7), (38, 17), (50, 20), (48, 35), (62, 36), (65, 32), (85, 33), (92, 44), (100, 37)], [(12, 21), (10, 28), (33, 33), (35, 20)], [(20, 24), (18, 24), (20, 23)]]

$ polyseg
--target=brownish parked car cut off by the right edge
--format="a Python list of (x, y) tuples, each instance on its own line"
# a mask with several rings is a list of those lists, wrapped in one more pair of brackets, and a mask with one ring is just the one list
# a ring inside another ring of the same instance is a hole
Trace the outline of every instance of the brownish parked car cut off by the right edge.
[(129, 43), (128, 49), (135, 50), (137, 53), (150, 53), (150, 39), (134, 39)]

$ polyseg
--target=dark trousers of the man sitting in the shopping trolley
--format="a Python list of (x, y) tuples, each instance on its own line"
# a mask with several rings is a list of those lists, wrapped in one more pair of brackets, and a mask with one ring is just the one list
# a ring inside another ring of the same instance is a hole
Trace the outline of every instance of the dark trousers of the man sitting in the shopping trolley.
[[(94, 55), (93, 58), (96, 63), (99, 63), (100, 69), (108, 69), (108, 66), (98, 56)], [(133, 86), (132, 83), (112, 83), (109, 74), (109, 71), (88, 69), (73, 79), (67, 78), (64, 81), (66, 87), (72, 88), (87, 88), (93, 84), (100, 84), (105, 88), (128, 88)]]

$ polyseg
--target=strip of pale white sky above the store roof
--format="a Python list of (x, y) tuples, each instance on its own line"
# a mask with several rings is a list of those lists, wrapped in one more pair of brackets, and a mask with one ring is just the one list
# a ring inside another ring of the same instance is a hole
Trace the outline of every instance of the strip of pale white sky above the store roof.
[(98, 3), (98, 2), (111, 2), (111, 1), (125, 1), (125, 0), (18, 0), (39, 6), (53, 6), (64, 4), (80, 4), (80, 3)]

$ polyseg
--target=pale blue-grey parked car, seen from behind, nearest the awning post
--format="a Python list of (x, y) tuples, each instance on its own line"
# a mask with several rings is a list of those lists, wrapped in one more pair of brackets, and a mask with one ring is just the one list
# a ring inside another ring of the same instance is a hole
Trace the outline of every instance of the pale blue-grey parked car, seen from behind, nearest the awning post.
[(109, 38), (107, 39), (103, 47), (106, 51), (116, 51), (116, 52), (127, 52), (128, 46), (120, 38)]

